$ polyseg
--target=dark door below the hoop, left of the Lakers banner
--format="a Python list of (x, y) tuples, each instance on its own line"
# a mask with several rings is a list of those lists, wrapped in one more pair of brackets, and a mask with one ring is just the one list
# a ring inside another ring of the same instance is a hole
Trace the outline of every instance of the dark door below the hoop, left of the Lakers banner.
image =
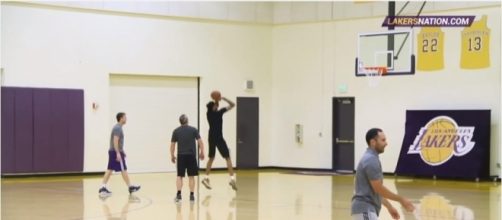
[(333, 98), (333, 170), (354, 172), (354, 98)]

